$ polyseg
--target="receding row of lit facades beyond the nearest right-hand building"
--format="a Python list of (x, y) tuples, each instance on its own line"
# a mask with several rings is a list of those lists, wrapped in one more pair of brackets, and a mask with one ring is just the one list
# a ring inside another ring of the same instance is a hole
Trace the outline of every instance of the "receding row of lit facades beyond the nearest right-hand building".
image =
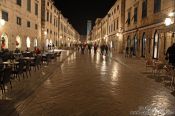
[(125, 0), (117, 0), (104, 18), (101, 20), (97, 18), (91, 31), (92, 42), (97, 42), (99, 45), (107, 44), (111, 50), (122, 52), (124, 6)]

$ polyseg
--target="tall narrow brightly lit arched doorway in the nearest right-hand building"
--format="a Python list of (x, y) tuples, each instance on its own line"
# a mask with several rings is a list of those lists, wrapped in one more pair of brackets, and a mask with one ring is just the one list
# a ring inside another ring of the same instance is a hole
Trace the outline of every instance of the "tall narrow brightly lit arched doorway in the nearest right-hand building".
[(157, 59), (159, 53), (159, 34), (157, 31), (154, 34), (154, 43), (153, 43), (153, 58)]

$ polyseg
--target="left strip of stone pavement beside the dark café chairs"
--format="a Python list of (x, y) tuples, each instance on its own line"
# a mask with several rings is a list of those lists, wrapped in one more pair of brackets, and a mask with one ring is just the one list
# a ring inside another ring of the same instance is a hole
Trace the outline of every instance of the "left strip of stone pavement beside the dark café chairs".
[(0, 116), (19, 115), (16, 109), (52, 76), (54, 69), (59, 67), (72, 53), (72, 51), (63, 50), (61, 56), (52, 60), (49, 65), (44, 64), (36, 72), (32, 70), (31, 77), (21, 77), (20, 81), (12, 80), (12, 89), (7, 86), (5, 94), (0, 91)]

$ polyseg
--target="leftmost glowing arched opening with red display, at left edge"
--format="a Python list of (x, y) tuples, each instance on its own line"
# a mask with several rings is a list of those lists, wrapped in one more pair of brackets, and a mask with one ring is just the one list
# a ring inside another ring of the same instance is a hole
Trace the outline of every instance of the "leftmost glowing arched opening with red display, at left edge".
[(6, 33), (1, 35), (1, 48), (8, 49), (8, 36)]

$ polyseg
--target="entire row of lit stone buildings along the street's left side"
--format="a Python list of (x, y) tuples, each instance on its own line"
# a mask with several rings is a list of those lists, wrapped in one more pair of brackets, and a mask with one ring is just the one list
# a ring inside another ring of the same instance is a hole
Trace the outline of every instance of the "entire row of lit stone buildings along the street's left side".
[(0, 46), (34, 50), (69, 45), (80, 35), (55, 7), (53, 0), (0, 0)]

